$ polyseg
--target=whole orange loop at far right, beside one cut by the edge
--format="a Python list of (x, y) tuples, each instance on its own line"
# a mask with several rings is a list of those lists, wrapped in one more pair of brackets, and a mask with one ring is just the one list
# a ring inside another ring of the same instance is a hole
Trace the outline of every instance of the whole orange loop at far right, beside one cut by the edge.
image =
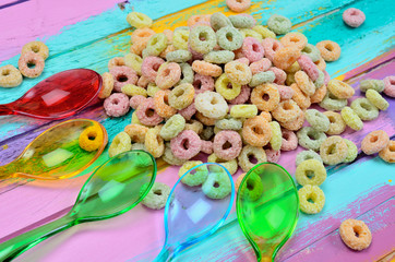
[(384, 150), (388, 143), (388, 134), (384, 130), (375, 130), (363, 138), (361, 150), (364, 154), (371, 155)]

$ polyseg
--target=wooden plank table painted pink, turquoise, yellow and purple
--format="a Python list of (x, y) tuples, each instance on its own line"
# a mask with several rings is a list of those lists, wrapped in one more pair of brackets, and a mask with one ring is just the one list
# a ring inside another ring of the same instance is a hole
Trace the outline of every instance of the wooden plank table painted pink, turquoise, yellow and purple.
[[(25, 79), (15, 88), (0, 88), (0, 104), (9, 103), (40, 80), (72, 68), (107, 71), (107, 62), (123, 56), (130, 47), (132, 29), (125, 15), (141, 11), (155, 19), (154, 29), (185, 25), (190, 15), (224, 11), (225, 1), (202, 0), (2, 0), (0, 2), (0, 63), (16, 66), (21, 47), (41, 39), (50, 49), (46, 68), (38, 79)], [(344, 25), (342, 13), (358, 8), (367, 15), (366, 23), (351, 29)], [(323, 39), (337, 41), (342, 58), (327, 64), (332, 78), (356, 88), (359, 81), (383, 79), (395, 72), (393, 0), (264, 0), (253, 2), (251, 12), (260, 23), (278, 13), (290, 17), (296, 31), (309, 43)], [(359, 132), (347, 130), (344, 136), (358, 146), (370, 131), (384, 129), (395, 135), (395, 99), (388, 99), (386, 112), (366, 122)], [(100, 121), (110, 141), (131, 120), (131, 112), (108, 118), (96, 103), (73, 118)], [(25, 117), (0, 117), (0, 165), (11, 162), (43, 130), (59, 121)], [(283, 153), (279, 164), (295, 171), (296, 152)], [(0, 242), (67, 213), (94, 167), (108, 159), (101, 157), (79, 177), (56, 182), (0, 181)], [(177, 167), (163, 166), (157, 181), (172, 186)], [(235, 179), (237, 178), (235, 175)], [(395, 250), (395, 166), (379, 157), (359, 154), (351, 165), (328, 168), (322, 186), (326, 195), (323, 211), (316, 215), (300, 214), (294, 237), (283, 247), (278, 261), (390, 261)], [(164, 241), (163, 211), (137, 206), (131, 212), (104, 222), (83, 224), (50, 238), (21, 255), (16, 261), (151, 261)], [(338, 236), (338, 226), (346, 218), (364, 221), (373, 241), (369, 249), (354, 252)], [(386, 255), (386, 257), (385, 257)], [(384, 258), (385, 257), (385, 258)], [(217, 234), (185, 250), (179, 261), (254, 261), (254, 253), (243, 237), (235, 210)]]

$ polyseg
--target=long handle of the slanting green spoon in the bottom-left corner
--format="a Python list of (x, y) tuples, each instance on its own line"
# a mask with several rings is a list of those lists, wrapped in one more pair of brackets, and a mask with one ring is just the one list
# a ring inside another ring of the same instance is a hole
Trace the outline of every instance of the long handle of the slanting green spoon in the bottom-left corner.
[(53, 236), (55, 234), (72, 227), (74, 224), (75, 219), (65, 215), (59, 219), (0, 243), (0, 261), (11, 261), (37, 243)]

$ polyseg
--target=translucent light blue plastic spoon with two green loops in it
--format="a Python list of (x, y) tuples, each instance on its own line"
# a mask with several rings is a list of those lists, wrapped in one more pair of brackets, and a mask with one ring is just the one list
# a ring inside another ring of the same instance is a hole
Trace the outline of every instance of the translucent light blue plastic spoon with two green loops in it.
[[(182, 182), (187, 176), (205, 176), (206, 179), (203, 178), (202, 186), (190, 187)], [(225, 193), (215, 193), (222, 190)], [(188, 170), (167, 200), (166, 240), (155, 261), (171, 261), (185, 248), (214, 234), (229, 215), (234, 199), (234, 180), (224, 166), (205, 163)]]

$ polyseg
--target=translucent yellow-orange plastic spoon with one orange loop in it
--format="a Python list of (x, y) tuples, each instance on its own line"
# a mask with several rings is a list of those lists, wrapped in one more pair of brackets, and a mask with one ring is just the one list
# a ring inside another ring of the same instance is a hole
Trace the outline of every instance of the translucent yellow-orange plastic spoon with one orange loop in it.
[[(86, 151), (79, 139), (84, 130), (95, 128), (98, 146)], [(72, 119), (47, 129), (33, 140), (13, 162), (0, 166), (0, 179), (23, 177), (34, 179), (63, 179), (84, 170), (107, 144), (107, 131), (97, 121)]]

